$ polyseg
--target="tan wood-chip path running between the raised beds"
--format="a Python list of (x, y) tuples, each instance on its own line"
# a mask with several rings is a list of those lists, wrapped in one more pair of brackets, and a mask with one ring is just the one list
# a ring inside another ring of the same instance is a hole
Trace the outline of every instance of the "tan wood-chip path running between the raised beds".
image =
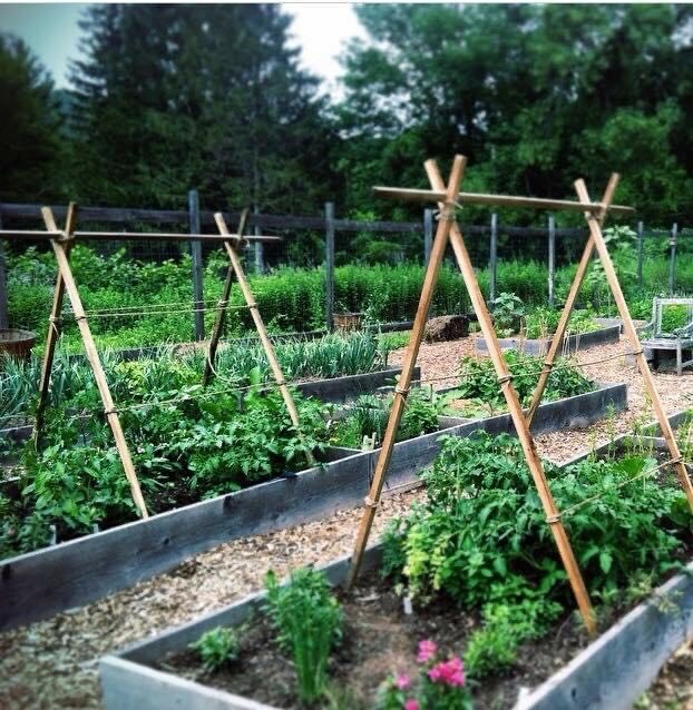
[[(623, 352), (625, 344), (579, 353), (588, 362)], [(422, 377), (455, 375), (461, 355), (474, 353), (474, 336), (453, 343), (423, 345), (419, 357)], [(403, 351), (392, 354), (401, 363)], [(611, 432), (626, 432), (635, 417), (651, 420), (642, 381), (624, 358), (586, 369), (602, 382), (628, 384), (629, 411), (608, 423), (585, 430), (538, 437), (544, 456), (562, 461), (590, 445), (608, 441)], [(693, 404), (693, 374), (656, 374), (665, 410)], [(445, 383), (440, 383), (442, 386)], [(406, 512), (422, 492), (393, 495), (377, 516), (373, 539), (387, 521)], [(290, 530), (223, 544), (197, 555), (169, 574), (138, 584), (99, 602), (0, 634), (0, 707), (96, 708), (99, 706), (98, 659), (109, 651), (163, 629), (195, 619), (263, 584), (272, 568), (324, 563), (352, 550), (360, 510)]]

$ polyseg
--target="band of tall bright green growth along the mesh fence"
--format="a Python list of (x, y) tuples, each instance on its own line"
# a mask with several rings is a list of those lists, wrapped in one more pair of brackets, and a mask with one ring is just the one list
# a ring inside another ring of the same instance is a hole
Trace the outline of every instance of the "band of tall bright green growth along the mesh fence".
[[(27, 252), (13, 257), (9, 270), (10, 319), (16, 327), (46, 333), (50, 310), (52, 268), (50, 255)], [(192, 302), (191, 264), (179, 262), (160, 264), (136, 263), (116, 254), (99, 257), (79, 246), (74, 250), (75, 273), (82, 299), (90, 310), (150, 306), (173, 302)], [(222, 292), (222, 270), (218, 259), (209, 258), (205, 272), (205, 298), (214, 303)], [(335, 272), (336, 309), (365, 312), (373, 321), (409, 321), (413, 317), (423, 283), (420, 264), (345, 265)], [(565, 297), (575, 274), (575, 265), (556, 272), (556, 294)], [(489, 272), (479, 268), (477, 276), (481, 290), (488, 297)], [(643, 264), (644, 288), (637, 288), (632, 276), (623, 276), (622, 285), (631, 302), (651, 298), (666, 289), (668, 259), (660, 252), (647, 254)], [(281, 267), (267, 275), (252, 275), (251, 286), (260, 310), (271, 332), (291, 333), (323, 328), (325, 317), (325, 273), (323, 268)], [(511, 292), (527, 305), (546, 305), (548, 272), (545, 264), (534, 260), (499, 262), (496, 292)], [(676, 289), (693, 290), (693, 259), (681, 255), (676, 264)], [(604, 314), (613, 304), (604, 288), (586, 284), (580, 299)], [(251, 314), (244, 308), (241, 293), (233, 288), (226, 323), (226, 336), (253, 331)], [(237, 308), (240, 307), (240, 308)], [(443, 264), (436, 286), (432, 313), (469, 310), (469, 299), (457, 266)], [(640, 308), (642, 309), (642, 308)], [(205, 328), (209, 334), (214, 312), (205, 314)], [(169, 313), (128, 317), (95, 317), (92, 332), (98, 345), (126, 348), (162, 343), (188, 342), (193, 338), (193, 314)], [(67, 318), (66, 339), (62, 345), (80, 349), (75, 323)], [(40, 348), (39, 348), (40, 349)]]

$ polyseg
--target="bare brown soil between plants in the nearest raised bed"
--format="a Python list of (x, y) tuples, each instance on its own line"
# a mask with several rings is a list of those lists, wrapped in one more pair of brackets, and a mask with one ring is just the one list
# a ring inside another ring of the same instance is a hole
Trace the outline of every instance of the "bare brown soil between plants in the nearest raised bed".
[[(446, 600), (416, 608), (407, 615), (391, 582), (375, 574), (364, 578), (353, 594), (341, 593), (340, 602), (344, 610), (343, 641), (332, 655), (330, 674), (339, 689), (348, 689), (352, 710), (372, 708), (375, 691), (389, 674), (416, 678), (417, 647), (422, 639), (435, 640), (442, 658), (461, 655), (470, 633), (479, 627), (475, 614)], [(275, 708), (299, 710), (302, 706), (295, 693), (295, 671), (275, 638), (266, 617), (258, 614), (241, 630), (236, 662), (207, 672), (197, 654), (186, 651), (168, 657), (159, 668)], [(508, 672), (477, 684), (475, 707), (513, 707), (518, 688), (541, 682), (586, 643), (579, 621), (574, 614), (567, 615), (540, 642), (524, 644), (518, 662)]]

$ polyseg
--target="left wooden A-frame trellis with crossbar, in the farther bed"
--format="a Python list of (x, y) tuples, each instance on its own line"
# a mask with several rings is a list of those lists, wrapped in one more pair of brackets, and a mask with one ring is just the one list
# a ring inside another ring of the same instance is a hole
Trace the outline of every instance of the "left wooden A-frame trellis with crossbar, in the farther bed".
[[(224, 286), (222, 299), (218, 302), (215, 308), (216, 318), (215, 318), (215, 324), (213, 328), (212, 339), (209, 341), (209, 346), (207, 349), (205, 372), (203, 374), (203, 383), (206, 385), (209, 382), (209, 376), (213, 371), (214, 356), (215, 356), (221, 333), (223, 329), (224, 316), (228, 307), (228, 299), (231, 296), (232, 274), (233, 274), (235, 275), (236, 280), (238, 282), (241, 286), (241, 292), (243, 294), (243, 298), (245, 300), (246, 307), (250, 308), (251, 314), (253, 316), (253, 322), (257, 331), (257, 335), (260, 337), (262, 346), (267, 356), (267, 361), (270, 363), (272, 374), (276, 381), (276, 385), (280, 388), (282, 396), (284, 398), (284, 403), (286, 405), (286, 410), (289, 411), (291, 421), (294, 424), (294, 426), (299, 427), (299, 414), (297, 414), (295, 404), (293, 402), (291, 391), (286, 386), (286, 381), (282, 373), (282, 368), (279, 364), (276, 354), (274, 352), (274, 347), (272, 345), (272, 342), (270, 341), (267, 331), (260, 315), (257, 303), (255, 302), (255, 297), (253, 295), (253, 292), (245, 276), (243, 264), (238, 255), (240, 245), (242, 245), (246, 240), (248, 241), (281, 241), (281, 237), (270, 237), (270, 236), (262, 236), (262, 235), (246, 237), (244, 235), (244, 230), (245, 230), (245, 225), (247, 220), (247, 210), (244, 211), (241, 217), (241, 223), (238, 225), (237, 234), (231, 234), (228, 231), (228, 228), (226, 227), (226, 223), (224, 220), (224, 216), (222, 213), (215, 214), (214, 217), (219, 231), (218, 235), (177, 234), (177, 233), (130, 233), (130, 231), (124, 231), (124, 233), (77, 231), (75, 229), (76, 221), (77, 221), (77, 206), (75, 205), (75, 203), (70, 203), (68, 207), (67, 218), (66, 218), (64, 229), (60, 229), (58, 227), (55, 220), (52, 210), (49, 207), (41, 208), (41, 216), (46, 225), (45, 230), (0, 229), (0, 238), (2, 239), (13, 239), (13, 240), (20, 240), (20, 241), (35, 240), (35, 239), (48, 239), (50, 241), (53, 254), (56, 256), (56, 262), (58, 264), (58, 276), (57, 276), (56, 285), (53, 288), (53, 302), (52, 302), (52, 307), (51, 307), (50, 317), (49, 317), (48, 335), (46, 337), (46, 349), (43, 352), (43, 361), (41, 364), (41, 376), (39, 381), (39, 396), (38, 396), (38, 403), (36, 407), (36, 418), (35, 418), (35, 425), (33, 425), (35, 445), (38, 446), (40, 442), (41, 428), (43, 425), (43, 415), (46, 413), (46, 406), (48, 404), (48, 395), (50, 392), (50, 377), (51, 377), (52, 364), (55, 359), (56, 345), (58, 343), (58, 338), (60, 336), (60, 329), (61, 329), (62, 304), (65, 300), (65, 293), (67, 292), (71, 308), (72, 308), (72, 314), (74, 314), (75, 321), (77, 322), (77, 326), (79, 328), (79, 333), (80, 333), (82, 343), (85, 345), (87, 359), (94, 373), (94, 378), (96, 381), (96, 385), (98, 387), (99, 395), (104, 404), (104, 413), (111, 428), (114, 440), (116, 443), (116, 448), (118, 451), (118, 455), (120, 457), (120, 462), (123, 464), (125, 475), (127, 476), (128, 483), (130, 485), (133, 501), (135, 502), (135, 505), (137, 510), (139, 511), (139, 514), (143, 517), (148, 517), (147, 506), (145, 504), (141, 490), (139, 486), (139, 480), (137, 479), (137, 473), (135, 471), (135, 466), (133, 465), (130, 451), (127, 445), (127, 441), (125, 438), (123, 426), (120, 424), (120, 417), (118, 416), (119, 412), (124, 412), (130, 407), (117, 408), (114, 404), (114, 401), (110, 394), (110, 388), (108, 386), (106, 373), (104, 372), (101, 359), (99, 357), (99, 353), (98, 353), (96, 343), (94, 341), (94, 336), (91, 334), (91, 328), (89, 327), (88, 314), (85, 310), (84, 305), (81, 303), (79, 289), (77, 287), (77, 283), (75, 282), (72, 269), (70, 267), (70, 250), (75, 241), (89, 240), (89, 239), (127, 239), (127, 240), (156, 240), (156, 241), (197, 239), (201, 241), (222, 243), (228, 255), (230, 266), (228, 266), (228, 274), (226, 277), (226, 283)], [(309, 461), (311, 463), (314, 462), (312, 456), (309, 456)]]

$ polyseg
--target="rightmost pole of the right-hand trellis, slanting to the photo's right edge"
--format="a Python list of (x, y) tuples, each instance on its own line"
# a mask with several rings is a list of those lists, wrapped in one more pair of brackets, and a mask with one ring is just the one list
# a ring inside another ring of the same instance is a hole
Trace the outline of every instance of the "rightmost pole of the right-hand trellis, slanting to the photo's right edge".
[[(585, 205), (589, 204), (589, 194), (587, 193), (587, 186), (585, 185), (584, 180), (580, 179), (575, 181), (575, 191), (577, 193), (580, 203)], [(668, 446), (668, 451), (672, 455), (672, 463), (676, 470), (676, 475), (679, 476), (679, 481), (681, 482), (683, 491), (686, 495), (689, 505), (691, 506), (691, 510), (693, 510), (693, 485), (691, 485), (691, 479), (689, 477), (685, 464), (683, 463), (683, 460), (681, 457), (681, 452), (679, 451), (679, 445), (676, 444), (674, 432), (672, 431), (672, 426), (668, 422), (666, 413), (664, 412), (662, 401), (660, 400), (660, 393), (657, 392), (656, 385), (654, 383), (654, 377), (652, 376), (650, 366), (647, 365), (647, 361), (645, 359), (645, 353), (643, 352), (642, 343), (640, 342), (637, 332), (635, 331), (635, 325), (633, 324), (633, 319), (631, 318), (631, 312), (628, 310), (628, 306), (623, 295), (621, 284), (618, 283), (618, 276), (616, 275), (614, 263), (612, 262), (612, 257), (608, 253), (608, 249), (606, 248), (606, 243), (604, 241), (604, 237), (602, 235), (599, 220), (596, 219), (590, 211), (585, 213), (585, 219), (587, 220), (589, 234), (592, 235), (595, 247), (597, 248), (597, 253), (599, 254), (599, 258), (602, 259), (606, 280), (608, 282), (612, 294), (614, 295), (614, 300), (616, 302), (616, 306), (618, 307), (618, 314), (621, 315), (621, 318), (623, 321), (623, 332), (628, 338), (631, 347), (633, 348), (635, 362), (637, 363), (637, 367), (643, 375), (645, 389), (652, 401), (652, 406), (655, 411), (657, 422), (660, 423), (662, 435), (666, 440), (666, 445)]]

